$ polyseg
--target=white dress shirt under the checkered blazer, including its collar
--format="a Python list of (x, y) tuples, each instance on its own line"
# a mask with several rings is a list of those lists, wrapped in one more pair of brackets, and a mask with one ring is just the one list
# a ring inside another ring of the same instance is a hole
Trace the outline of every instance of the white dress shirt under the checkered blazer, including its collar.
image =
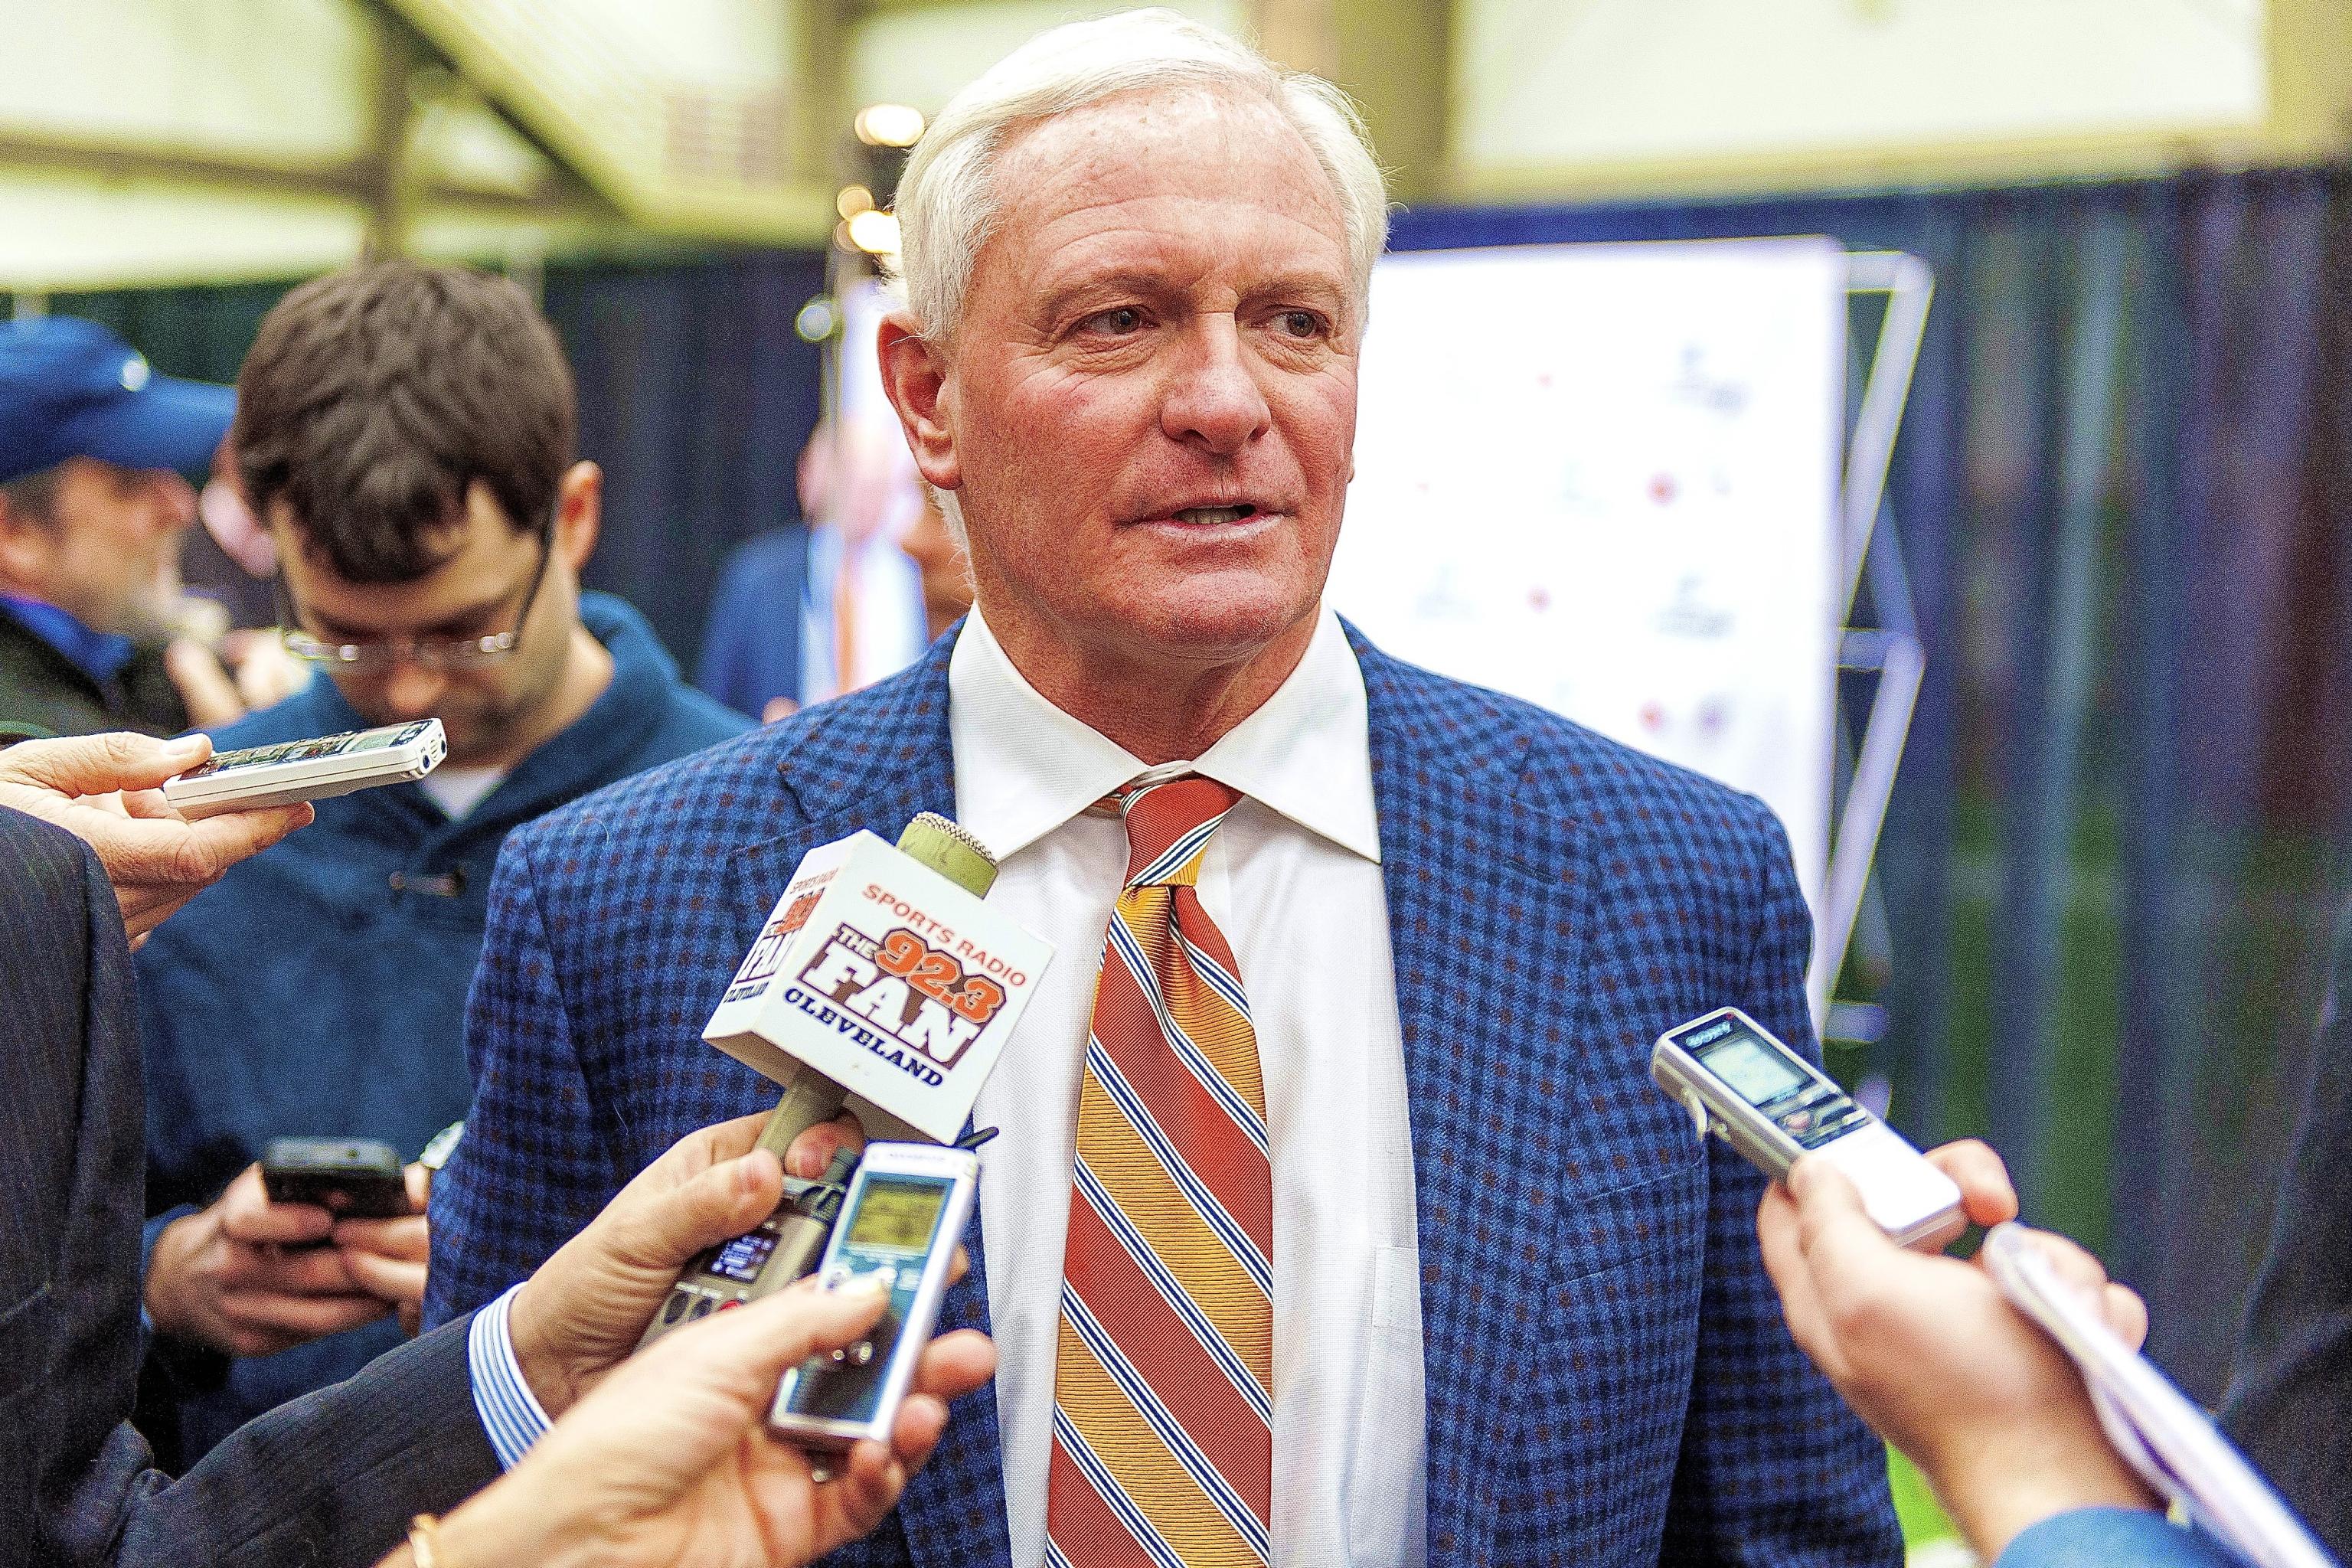
[[(955, 813), (988, 903), (1054, 943), (981, 1088), (981, 1239), (1014, 1568), (1044, 1561), (1061, 1253), (1094, 976), (1127, 830), (1084, 816), (1145, 764), (1047, 703), (978, 611), (948, 663)], [(1414, 1143), (1364, 675), (1327, 609), (1291, 677), (1192, 762), (1242, 792), (1200, 900), (1258, 1032), (1275, 1185), (1275, 1568), (1421, 1563), (1425, 1408)]]

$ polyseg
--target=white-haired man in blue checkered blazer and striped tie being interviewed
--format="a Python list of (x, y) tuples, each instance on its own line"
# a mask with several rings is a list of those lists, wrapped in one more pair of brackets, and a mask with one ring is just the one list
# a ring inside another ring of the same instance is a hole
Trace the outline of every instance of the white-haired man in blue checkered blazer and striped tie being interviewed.
[(1809, 1039), (1778, 825), (1322, 604), (1385, 233), (1345, 99), (1077, 24), (941, 113), (898, 209), (884, 381), (976, 609), (508, 842), (428, 1316), (771, 1100), (694, 1032), (783, 879), (955, 811), (1058, 950), (943, 1314), (1002, 1371), (840, 1561), (1898, 1561), (1759, 1180), (1644, 1072), (1726, 1001)]

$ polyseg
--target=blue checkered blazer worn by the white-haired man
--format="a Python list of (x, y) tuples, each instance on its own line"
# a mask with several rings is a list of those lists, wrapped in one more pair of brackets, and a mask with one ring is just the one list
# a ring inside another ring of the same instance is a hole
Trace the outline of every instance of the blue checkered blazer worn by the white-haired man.
[[(1809, 1041), (1811, 922), (1755, 799), (1355, 639), (1411, 1093), (1432, 1563), (1898, 1563), (1886, 1458), (1790, 1345), (1757, 1175), (1649, 1044), (1726, 1001)], [(953, 811), (948, 649), (517, 830), (433, 1190), (428, 1321), (675, 1138), (776, 1100), (701, 1025), (800, 856)], [(946, 1321), (985, 1328), (985, 1255)], [(842, 1563), (1007, 1563), (993, 1392)]]

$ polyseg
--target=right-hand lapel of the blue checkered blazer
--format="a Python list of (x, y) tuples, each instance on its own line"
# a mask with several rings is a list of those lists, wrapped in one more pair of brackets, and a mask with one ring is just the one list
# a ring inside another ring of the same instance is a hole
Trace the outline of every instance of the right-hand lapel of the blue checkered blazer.
[(1559, 1157), (1581, 1105), (1557, 1063), (1583, 994), (1590, 835), (1519, 788), (1508, 708), (1402, 665), (1355, 628), (1381, 813), (1381, 879), (1414, 1128), (1432, 1561), (1491, 1533), (1508, 1401), (1536, 1326)]

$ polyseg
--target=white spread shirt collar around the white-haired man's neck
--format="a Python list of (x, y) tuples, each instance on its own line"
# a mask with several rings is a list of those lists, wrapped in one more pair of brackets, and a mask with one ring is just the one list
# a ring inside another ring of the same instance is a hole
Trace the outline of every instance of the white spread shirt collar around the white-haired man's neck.
[[(978, 609), (948, 658), (948, 736), (957, 818), (1000, 860), (1145, 771), (1127, 748), (1044, 701)], [(1338, 616), (1324, 609), (1289, 679), (1192, 771), (1378, 860), (1369, 736), (1364, 672)]]

